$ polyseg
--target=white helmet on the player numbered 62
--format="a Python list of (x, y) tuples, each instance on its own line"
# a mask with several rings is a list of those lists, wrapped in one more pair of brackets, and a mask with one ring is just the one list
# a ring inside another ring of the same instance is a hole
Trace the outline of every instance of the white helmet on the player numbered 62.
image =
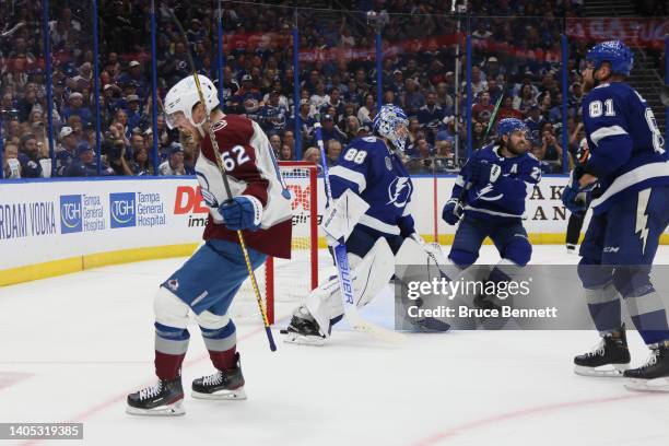
[[(204, 96), (207, 113), (211, 113), (219, 104), (219, 92), (213, 82), (202, 74), (198, 74), (202, 95)], [(192, 107), (200, 102), (200, 95), (196, 87), (195, 78), (189, 75), (177, 82), (165, 96), (165, 122), (171, 129), (177, 127), (177, 121), (183, 116), (196, 127), (201, 127), (203, 122), (196, 124), (192, 120)]]

